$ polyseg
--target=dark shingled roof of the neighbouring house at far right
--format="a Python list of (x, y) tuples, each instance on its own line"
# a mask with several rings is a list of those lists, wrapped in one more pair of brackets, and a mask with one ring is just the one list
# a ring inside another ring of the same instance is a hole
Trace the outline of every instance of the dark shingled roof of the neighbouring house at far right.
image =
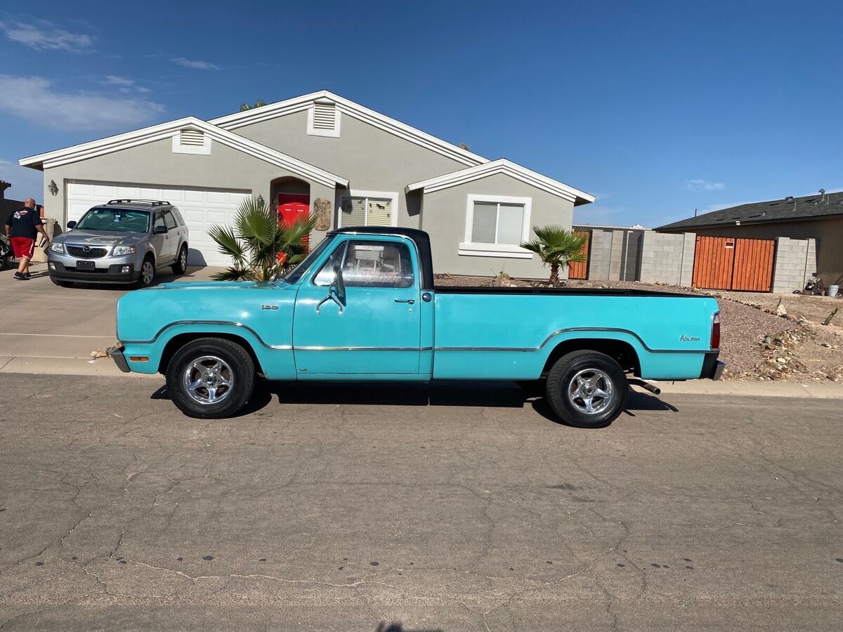
[(797, 222), (843, 215), (843, 192), (823, 195), (803, 195), (787, 197), (784, 200), (752, 202), (739, 206), (730, 206), (720, 211), (712, 211), (697, 217), (688, 217), (665, 224), (656, 230), (674, 230), (694, 228), (717, 228), (746, 224), (765, 224), (771, 222)]

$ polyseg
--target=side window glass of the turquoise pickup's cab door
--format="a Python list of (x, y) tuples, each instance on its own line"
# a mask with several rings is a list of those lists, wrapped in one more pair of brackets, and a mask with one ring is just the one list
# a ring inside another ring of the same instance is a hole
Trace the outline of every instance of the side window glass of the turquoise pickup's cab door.
[(346, 287), (412, 287), (413, 265), (407, 244), (349, 240), (330, 255), (316, 275), (316, 285), (329, 285), (340, 265)]

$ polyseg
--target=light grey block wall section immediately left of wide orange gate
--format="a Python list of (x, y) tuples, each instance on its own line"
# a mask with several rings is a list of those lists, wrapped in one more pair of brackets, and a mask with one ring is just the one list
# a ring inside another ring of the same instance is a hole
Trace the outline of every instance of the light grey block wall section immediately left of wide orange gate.
[(642, 236), (641, 275), (647, 283), (690, 287), (694, 274), (695, 233), (652, 233)]

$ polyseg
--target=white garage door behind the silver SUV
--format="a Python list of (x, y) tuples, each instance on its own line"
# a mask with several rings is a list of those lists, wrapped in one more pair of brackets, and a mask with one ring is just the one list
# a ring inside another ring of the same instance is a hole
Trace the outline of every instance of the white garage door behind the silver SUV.
[(164, 200), (178, 207), (190, 229), (191, 265), (231, 265), (231, 260), (217, 252), (217, 244), (208, 237), (212, 224), (234, 222), (234, 212), (248, 191), (177, 189), (153, 185), (116, 185), (110, 182), (68, 182), (67, 220), (78, 222), (91, 206), (109, 200)]

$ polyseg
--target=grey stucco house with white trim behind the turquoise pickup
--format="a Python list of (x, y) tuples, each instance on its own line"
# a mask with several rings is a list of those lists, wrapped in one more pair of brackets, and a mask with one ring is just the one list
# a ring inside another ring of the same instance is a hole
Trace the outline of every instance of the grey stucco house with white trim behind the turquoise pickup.
[[(226, 265), (207, 228), (246, 195), (282, 215), (330, 204), (330, 227), (421, 228), (437, 270), (545, 276), (518, 244), (571, 228), (593, 195), (504, 158), (489, 160), (322, 90), (222, 116), (186, 117), (22, 158), (44, 172), (46, 215), (63, 227), (117, 198), (169, 201), (191, 229), (191, 264)], [(315, 231), (311, 243), (325, 230)]]

